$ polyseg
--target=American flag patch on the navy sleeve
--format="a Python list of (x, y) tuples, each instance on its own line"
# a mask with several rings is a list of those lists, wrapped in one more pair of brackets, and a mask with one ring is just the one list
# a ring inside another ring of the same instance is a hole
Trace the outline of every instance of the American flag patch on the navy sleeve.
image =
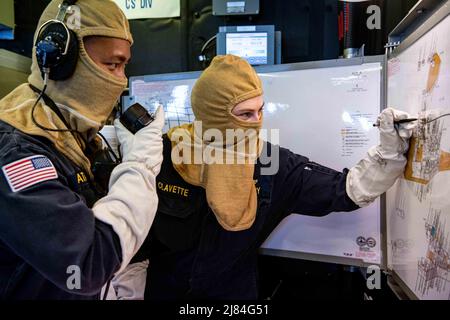
[(2, 167), (13, 192), (18, 192), (43, 181), (58, 178), (53, 163), (45, 156), (23, 158)]

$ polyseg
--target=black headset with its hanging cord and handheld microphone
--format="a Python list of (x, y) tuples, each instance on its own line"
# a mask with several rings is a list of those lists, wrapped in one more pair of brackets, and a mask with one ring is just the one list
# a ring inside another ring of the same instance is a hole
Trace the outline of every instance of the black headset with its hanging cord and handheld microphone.
[[(36, 127), (44, 131), (71, 132), (76, 140), (80, 139), (84, 142), (84, 152), (91, 162), (91, 170), (95, 177), (92, 184), (97, 193), (104, 196), (108, 191), (111, 172), (121, 161), (120, 155), (118, 156), (114, 153), (108, 141), (101, 133), (99, 133), (99, 135), (107, 145), (106, 149), (98, 149), (96, 143), (86, 141), (82, 133), (70, 127), (70, 123), (64, 118), (57, 104), (51, 97), (45, 94), (47, 86), (52, 85), (48, 83), (49, 79), (54, 81), (66, 80), (75, 73), (79, 57), (79, 42), (76, 33), (67, 26), (68, 23), (66, 19), (75, 12), (72, 6), (76, 2), (76, 0), (64, 0), (59, 6), (57, 17), (45, 22), (37, 32), (35, 52), (37, 63), (44, 80), (44, 86), (41, 90), (30, 85), (31, 89), (39, 94), (31, 109), (31, 118)], [(41, 99), (43, 99), (45, 102), (44, 104), (58, 116), (67, 129), (47, 128), (38, 123), (37, 119), (34, 117), (34, 111), (36, 107), (38, 107), (38, 103)], [(136, 111), (135, 108), (132, 110)], [(135, 116), (140, 117), (135, 119)], [(133, 114), (128, 115), (128, 117), (130, 123), (133, 125), (133, 129), (136, 130), (140, 129), (140, 125), (145, 126), (150, 121), (139, 112), (134, 112)]]

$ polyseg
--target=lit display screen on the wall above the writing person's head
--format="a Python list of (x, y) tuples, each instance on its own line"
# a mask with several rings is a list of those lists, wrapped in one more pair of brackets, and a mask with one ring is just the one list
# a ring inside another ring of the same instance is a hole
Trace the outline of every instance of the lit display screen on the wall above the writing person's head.
[(242, 57), (252, 65), (267, 64), (267, 32), (227, 33), (226, 53)]

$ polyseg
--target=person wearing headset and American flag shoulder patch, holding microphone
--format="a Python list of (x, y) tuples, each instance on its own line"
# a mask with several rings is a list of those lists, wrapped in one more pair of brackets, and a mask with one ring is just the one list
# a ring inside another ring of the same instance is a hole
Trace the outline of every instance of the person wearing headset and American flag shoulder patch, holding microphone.
[[(49, 4), (39, 26), (58, 15), (60, 4)], [(38, 99), (44, 81), (34, 55), (29, 83), (0, 100), (0, 300), (99, 299), (143, 243), (156, 212), (162, 112), (135, 135), (116, 121), (122, 163), (109, 192), (96, 187), (89, 150), (127, 85), (132, 38), (114, 2), (77, 5), (73, 74), (52, 80), (61, 71), (52, 69)]]

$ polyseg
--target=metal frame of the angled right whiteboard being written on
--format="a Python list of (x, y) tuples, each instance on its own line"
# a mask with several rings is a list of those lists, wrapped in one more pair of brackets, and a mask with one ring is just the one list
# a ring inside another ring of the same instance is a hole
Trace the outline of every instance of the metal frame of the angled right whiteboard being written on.
[[(446, 3), (441, 4), (438, 9), (433, 11), (433, 15), (431, 15), (420, 27), (411, 32), (404, 41), (395, 48), (392, 53), (389, 53), (387, 59), (395, 58), (400, 55), (402, 52), (407, 50), (410, 46), (420, 40), (426, 33), (428, 33), (431, 29), (433, 29), (438, 23), (443, 21), (445, 18), (450, 16), (450, 0), (447, 0)], [(409, 21), (411, 28), (415, 28), (415, 24), (413, 21)], [(404, 30), (408, 30), (407, 26), (403, 26)], [(386, 92), (387, 93), (387, 92)], [(386, 225), (387, 228), (387, 225)], [(387, 251), (386, 251), (387, 253)], [(387, 258), (386, 258), (387, 262)], [(395, 272), (395, 270), (389, 270), (393, 276), (393, 279), (397, 282), (397, 284), (404, 290), (404, 292), (408, 295), (410, 299), (418, 300), (418, 297), (412, 292), (412, 290), (401, 280), (400, 276)]]

